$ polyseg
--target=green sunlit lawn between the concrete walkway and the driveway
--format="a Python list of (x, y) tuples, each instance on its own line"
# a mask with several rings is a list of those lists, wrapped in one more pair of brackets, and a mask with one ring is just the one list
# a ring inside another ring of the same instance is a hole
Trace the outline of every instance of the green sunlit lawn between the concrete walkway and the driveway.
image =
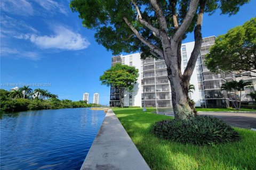
[(134, 144), (151, 169), (255, 169), (256, 132), (235, 128), (239, 142), (216, 146), (182, 145), (158, 139), (150, 133), (151, 126), (170, 116), (151, 112), (155, 108), (113, 108)]

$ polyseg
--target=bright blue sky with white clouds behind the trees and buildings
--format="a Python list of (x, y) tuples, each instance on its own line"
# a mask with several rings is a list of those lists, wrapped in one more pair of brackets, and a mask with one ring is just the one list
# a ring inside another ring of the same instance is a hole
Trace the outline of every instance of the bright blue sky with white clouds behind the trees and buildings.
[[(256, 1), (234, 16), (204, 15), (203, 37), (218, 36), (256, 16)], [(82, 27), (69, 1), (1, 0), (1, 87), (31, 84), (60, 99), (81, 100), (83, 93), (100, 94), (109, 103), (109, 88), (99, 77), (111, 66), (111, 52), (94, 40), (94, 30)], [(183, 43), (194, 41), (188, 35)]]

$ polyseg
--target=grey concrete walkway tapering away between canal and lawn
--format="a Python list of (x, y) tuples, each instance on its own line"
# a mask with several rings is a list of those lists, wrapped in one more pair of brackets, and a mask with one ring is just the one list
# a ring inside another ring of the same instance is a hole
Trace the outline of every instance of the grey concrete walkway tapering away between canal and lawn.
[(81, 169), (150, 169), (109, 109)]

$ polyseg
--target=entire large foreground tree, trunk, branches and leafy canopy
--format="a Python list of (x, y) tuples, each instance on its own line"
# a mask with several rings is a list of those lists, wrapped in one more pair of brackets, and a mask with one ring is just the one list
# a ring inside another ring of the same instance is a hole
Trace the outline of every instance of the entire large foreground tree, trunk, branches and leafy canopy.
[[(203, 14), (218, 8), (233, 15), (250, 0), (71, 0), (84, 27), (95, 29), (96, 41), (120, 53), (141, 52), (141, 58), (165, 60), (171, 84), (175, 118), (194, 116), (188, 87), (202, 45)], [(185, 71), (181, 72), (181, 41), (194, 31), (195, 45)]]

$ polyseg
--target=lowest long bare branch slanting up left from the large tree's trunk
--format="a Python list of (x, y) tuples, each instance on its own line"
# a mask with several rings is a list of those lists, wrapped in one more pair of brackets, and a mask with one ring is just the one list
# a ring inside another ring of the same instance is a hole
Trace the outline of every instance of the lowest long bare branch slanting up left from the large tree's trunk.
[(157, 46), (151, 44), (146, 38), (142, 37), (137, 29), (135, 29), (132, 24), (128, 21), (128, 19), (124, 16), (123, 20), (125, 23), (129, 26), (129, 28), (132, 30), (132, 32), (135, 34), (135, 36), (146, 46), (148, 46), (154, 53), (157, 55), (164, 57), (163, 50), (158, 48)]

